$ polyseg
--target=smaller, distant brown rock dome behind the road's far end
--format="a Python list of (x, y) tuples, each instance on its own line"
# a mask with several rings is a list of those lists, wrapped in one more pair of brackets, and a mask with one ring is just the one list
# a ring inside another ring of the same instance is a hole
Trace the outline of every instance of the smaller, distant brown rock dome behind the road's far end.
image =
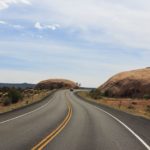
[(77, 84), (66, 79), (49, 79), (39, 82), (36, 89), (61, 89), (61, 88), (77, 88)]

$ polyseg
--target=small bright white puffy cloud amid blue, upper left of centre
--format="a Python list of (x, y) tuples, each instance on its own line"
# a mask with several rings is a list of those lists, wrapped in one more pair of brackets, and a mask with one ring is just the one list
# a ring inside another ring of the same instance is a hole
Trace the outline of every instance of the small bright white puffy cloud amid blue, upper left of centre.
[(43, 29), (51, 29), (51, 30), (56, 30), (57, 28), (60, 27), (59, 24), (52, 24), (52, 25), (41, 25), (40, 22), (36, 22), (34, 27), (36, 29), (39, 29), (39, 30), (43, 30)]

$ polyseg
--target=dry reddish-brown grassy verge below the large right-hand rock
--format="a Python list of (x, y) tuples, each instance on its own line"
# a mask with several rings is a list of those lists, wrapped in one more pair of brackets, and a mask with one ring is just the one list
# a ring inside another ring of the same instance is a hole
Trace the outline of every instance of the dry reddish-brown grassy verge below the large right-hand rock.
[(142, 116), (144, 118), (150, 119), (150, 100), (116, 99), (106, 97), (93, 99), (87, 91), (78, 91), (77, 95), (83, 97), (87, 101), (92, 101), (97, 104), (105, 105), (136, 116)]

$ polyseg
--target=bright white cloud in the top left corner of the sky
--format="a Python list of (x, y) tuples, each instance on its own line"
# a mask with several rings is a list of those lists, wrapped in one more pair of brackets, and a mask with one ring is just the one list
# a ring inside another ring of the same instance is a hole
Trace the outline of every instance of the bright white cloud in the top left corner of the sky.
[(31, 2), (28, 0), (0, 0), (0, 10), (8, 8), (11, 4), (19, 3), (31, 5)]

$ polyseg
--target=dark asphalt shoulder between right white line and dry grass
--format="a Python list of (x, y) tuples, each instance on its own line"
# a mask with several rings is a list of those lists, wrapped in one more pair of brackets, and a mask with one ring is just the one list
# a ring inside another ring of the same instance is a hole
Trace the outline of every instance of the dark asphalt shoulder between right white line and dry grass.
[(114, 117), (121, 120), (123, 123), (125, 123), (127, 126), (129, 126), (135, 133), (137, 133), (147, 144), (150, 145), (150, 120), (145, 119), (143, 117), (134, 116), (131, 114), (128, 114), (126, 112), (122, 112), (113, 108), (110, 108), (108, 106), (104, 106), (101, 104), (97, 104), (93, 101), (89, 101), (79, 95), (75, 92), (74, 95), (78, 97), (80, 100), (83, 100), (84, 102), (87, 102), (89, 104), (92, 104), (108, 113), (113, 115)]

